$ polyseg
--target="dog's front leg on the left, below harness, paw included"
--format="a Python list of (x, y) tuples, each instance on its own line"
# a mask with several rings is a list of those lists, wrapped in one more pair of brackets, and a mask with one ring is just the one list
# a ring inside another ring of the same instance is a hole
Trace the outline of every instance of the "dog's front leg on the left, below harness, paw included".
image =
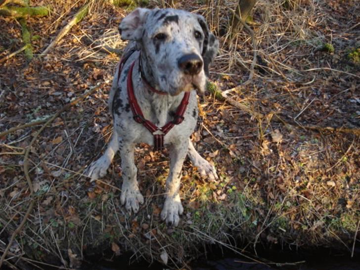
[(139, 187), (137, 185), (137, 168), (134, 163), (134, 143), (123, 143), (120, 147), (121, 167), (123, 169), (123, 185), (121, 188), (120, 201), (125, 208), (136, 213), (139, 204), (144, 203)]

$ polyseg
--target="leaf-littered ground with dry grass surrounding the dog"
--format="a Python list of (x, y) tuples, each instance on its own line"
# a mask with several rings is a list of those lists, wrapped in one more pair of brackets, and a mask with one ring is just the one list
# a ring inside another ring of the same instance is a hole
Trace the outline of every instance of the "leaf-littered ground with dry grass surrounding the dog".
[[(90, 1), (89, 14), (45, 56), (39, 54), (84, 4), (83, 0), (34, 0), (51, 5), (50, 16), (28, 18), (34, 58), (24, 52), (0, 63), (0, 132), (62, 112), (31, 145), (30, 179), (24, 153), (42, 125), (0, 137), (0, 251), (35, 207), (10, 253), (29, 262), (74, 267), (86, 255), (111, 248), (175, 268), (216, 243), (241, 252), (256, 245), (335, 247), (352, 253), (360, 234), (360, 30), (358, 1), (259, 0), (250, 27), (257, 65), (245, 30), (228, 36), (236, 1), (174, 1), (204, 14), (221, 49), (211, 68), (208, 94), (192, 140), (213, 162), (220, 180), (203, 180), (185, 161), (180, 225), (159, 218), (168, 153), (136, 148), (139, 213), (120, 205), (121, 168), (116, 156), (108, 174), (90, 183), (82, 173), (100, 156), (111, 135), (107, 97), (122, 49), (117, 25), (131, 6)], [(165, 1), (142, 1), (148, 7)], [(134, 3), (133, 3), (134, 4)], [(0, 17), (0, 59), (22, 47), (21, 26)], [(238, 86), (238, 87), (237, 87)], [(236, 87), (236, 88), (235, 88)], [(235, 89), (233, 89), (235, 88)], [(227, 91), (240, 110), (210, 90)], [(235, 244), (236, 243), (236, 244)], [(51, 255), (51, 256), (50, 256)]]

